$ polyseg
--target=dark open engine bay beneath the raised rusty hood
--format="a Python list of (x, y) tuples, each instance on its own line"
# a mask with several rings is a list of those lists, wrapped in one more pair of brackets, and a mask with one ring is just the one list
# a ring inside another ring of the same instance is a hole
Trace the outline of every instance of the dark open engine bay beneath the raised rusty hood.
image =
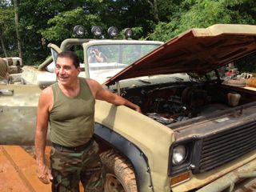
[[(217, 82), (149, 85), (122, 89), (121, 94), (140, 106), (142, 114), (164, 125), (256, 101), (254, 91)], [(237, 102), (230, 102), (230, 96)]]

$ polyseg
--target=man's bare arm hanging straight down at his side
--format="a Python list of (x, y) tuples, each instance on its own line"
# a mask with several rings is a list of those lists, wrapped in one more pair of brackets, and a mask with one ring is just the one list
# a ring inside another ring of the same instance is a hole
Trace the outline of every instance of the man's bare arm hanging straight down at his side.
[(39, 97), (37, 126), (34, 139), (38, 178), (46, 184), (49, 183), (49, 179), (52, 178), (50, 170), (45, 162), (46, 137), (52, 98), (51, 87), (43, 90)]

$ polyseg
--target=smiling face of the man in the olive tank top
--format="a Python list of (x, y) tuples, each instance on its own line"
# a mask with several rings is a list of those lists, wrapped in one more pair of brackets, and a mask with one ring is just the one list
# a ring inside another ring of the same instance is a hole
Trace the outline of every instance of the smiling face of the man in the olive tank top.
[(78, 79), (80, 68), (75, 68), (70, 58), (58, 58), (55, 67), (55, 74), (58, 82), (62, 85), (68, 85)]

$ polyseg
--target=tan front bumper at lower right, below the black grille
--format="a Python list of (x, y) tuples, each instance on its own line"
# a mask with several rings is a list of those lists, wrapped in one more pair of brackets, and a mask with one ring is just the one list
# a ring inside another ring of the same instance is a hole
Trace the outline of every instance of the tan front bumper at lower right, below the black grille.
[[(256, 183), (256, 161), (246, 163), (246, 165), (239, 167), (237, 170), (223, 175), (214, 182), (211, 182), (207, 186), (203, 186), (197, 192), (219, 192), (228, 189), (229, 191), (250, 190)], [(242, 185), (239, 183), (242, 182)]]

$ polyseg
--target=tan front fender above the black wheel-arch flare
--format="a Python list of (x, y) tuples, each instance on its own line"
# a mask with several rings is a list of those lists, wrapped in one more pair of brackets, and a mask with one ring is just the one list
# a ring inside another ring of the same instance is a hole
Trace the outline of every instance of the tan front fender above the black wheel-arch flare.
[(95, 122), (133, 142), (149, 160), (154, 191), (170, 191), (167, 177), (169, 149), (174, 132), (154, 120), (130, 110), (126, 106), (113, 106), (96, 102)]

